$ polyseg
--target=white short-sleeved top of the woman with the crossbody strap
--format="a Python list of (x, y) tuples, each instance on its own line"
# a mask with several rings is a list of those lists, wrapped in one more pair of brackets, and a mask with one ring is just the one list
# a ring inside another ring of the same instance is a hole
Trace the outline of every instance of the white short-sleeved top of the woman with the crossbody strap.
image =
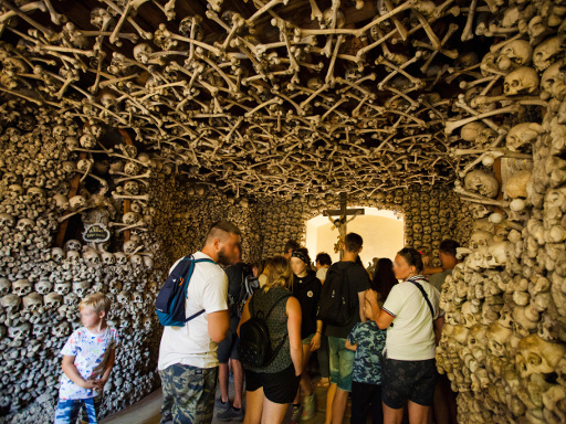
[[(419, 280), (434, 310), (441, 316), (440, 293), (429, 283)], [(419, 288), (410, 283), (396, 284), (384, 304), (387, 314), (395, 317), (387, 329), (387, 358), (401, 361), (422, 361), (434, 358), (434, 326), (430, 308)]]

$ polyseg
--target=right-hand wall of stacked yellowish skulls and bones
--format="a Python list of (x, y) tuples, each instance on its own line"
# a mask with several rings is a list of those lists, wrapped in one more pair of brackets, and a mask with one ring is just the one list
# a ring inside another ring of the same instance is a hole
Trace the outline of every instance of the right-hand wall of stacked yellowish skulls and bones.
[(565, 11), (546, 2), (502, 10), (494, 30), (514, 30), (455, 103), (468, 117), (446, 127), (475, 146), (452, 151), (454, 191), (473, 222), (443, 286), (437, 351), (462, 423), (566, 420)]

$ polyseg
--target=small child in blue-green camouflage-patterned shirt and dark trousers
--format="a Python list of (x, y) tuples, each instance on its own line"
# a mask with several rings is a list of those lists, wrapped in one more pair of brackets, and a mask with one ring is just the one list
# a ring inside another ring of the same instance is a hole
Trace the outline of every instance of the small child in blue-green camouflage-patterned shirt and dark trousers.
[(346, 340), (346, 349), (354, 350), (354, 373), (352, 375), (352, 424), (365, 424), (371, 407), (371, 424), (382, 424), (381, 407), (381, 352), (385, 349), (386, 331), (373, 320), (371, 305), (364, 304), (368, 319), (358, 322)]

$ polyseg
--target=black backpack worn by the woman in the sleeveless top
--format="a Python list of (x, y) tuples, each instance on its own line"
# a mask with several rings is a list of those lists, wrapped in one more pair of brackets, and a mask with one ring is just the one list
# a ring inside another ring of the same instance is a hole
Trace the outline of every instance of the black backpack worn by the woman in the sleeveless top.
[(291, 294), (285, 294), (275, 300), (268, 314), (263, 314), (262, 310), (255, 314), (253, 308), (254, 297), (255, 296), (252, 296), (252, 299), (250, 300), (251, 318), (240, 326), (238, 358), (244, 365), (262, 368), (269, 365), (275, 359), (289, 336), (289, 333), (285, 335), (279, 342), (277, 347), (275, 349), (271, 349), (268, 317), (271, 315), (275, 306), (283, 300), (289, 299)]

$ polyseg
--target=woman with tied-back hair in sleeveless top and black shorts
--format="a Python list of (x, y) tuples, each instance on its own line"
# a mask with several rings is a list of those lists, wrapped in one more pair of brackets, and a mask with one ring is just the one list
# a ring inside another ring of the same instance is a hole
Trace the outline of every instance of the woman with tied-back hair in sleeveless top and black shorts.
[(293, 272), (287, 259), (271, 258), (265, 264), (264, 275), (265, 285), (253, 293), (243, 308), (238, 333), (252, 317), (264, 317), (274, 356), (261, 368), (243, 364), (244, 424), (282, 423), (289, 404), (296, 396), (303, 365), (301, 306), (289, 290)]

